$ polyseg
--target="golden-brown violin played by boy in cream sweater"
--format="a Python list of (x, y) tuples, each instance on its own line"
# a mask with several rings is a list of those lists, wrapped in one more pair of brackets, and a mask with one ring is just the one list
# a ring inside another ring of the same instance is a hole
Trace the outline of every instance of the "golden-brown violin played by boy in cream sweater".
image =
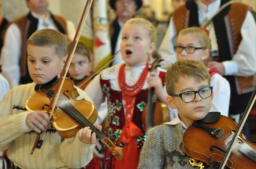
[[(36, 87), (39, 90), (31, 94), (26, 100), (26, 109), (31, 112), (36, 110), (47, 111), (54, 90), (56, 89), (56, 84), (47, 88), (43, 85)], [(112, 142), (115, 140), (115, 135), (111, 137), (111, 141), (95, 128), (93, 123), (98, 118), (98, 112), (91, 102), (85, 99), (75, 99), (79, 94), (70, 79), (65, 78), (60, 93), (57, 99), (57, 106), (54, 108), (50, 121), (58, 134), (63, 138), (71, 138), (74, 137), (81, 128), (89, 126), (92, 132), (96, 133), (96, 137), (105, 145), (105, 147), (100, 150), (100, 153), (108, 149), (112, 155), (108, 157), (107, 160), (113, 157), (121, 160), (124, 157), (122, 149), (125, 143), (121, 142), (117, 147)], [(38, 98), (40, 98), (40, 101), (35, 102)]]

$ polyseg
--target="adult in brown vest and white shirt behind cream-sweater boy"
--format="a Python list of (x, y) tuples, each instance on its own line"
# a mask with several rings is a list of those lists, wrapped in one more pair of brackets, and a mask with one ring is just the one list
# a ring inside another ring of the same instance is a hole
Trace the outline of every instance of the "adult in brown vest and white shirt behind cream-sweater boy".
[(51, 28), (73, 39), (75, 27), (71, 21), (48, 11), (49, 0), (26, 0), (30, 10), (27, 15), (13, 21), (5, 34), (1, 51), (2, 74), (10, 86), (32, 82), (27, 70), (26, 41), (36, 30)]

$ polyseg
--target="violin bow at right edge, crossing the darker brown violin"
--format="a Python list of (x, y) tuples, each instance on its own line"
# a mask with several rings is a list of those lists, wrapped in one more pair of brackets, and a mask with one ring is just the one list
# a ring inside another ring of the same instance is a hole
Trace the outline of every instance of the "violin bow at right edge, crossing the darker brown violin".
[[(242, 117), (242, 119), (241, 119), (241, 121), (240, 121), (240, 123), (239, 123), (239, 125), (238, 125), (238, 127), (237, 127), (237, 131), (235, 132), (235, 135), (233, 136), (233, 138), (232, 138), (232, 140), (231, 140), (231, 143), (230, 143), (230, 145), (229, 145), (229, 148), (228, 148), (228, 150), (227, 150), (227, 152), (226, 152), (226, 154), (225, 154), (225, 156), (224, 156), (224, 158), (223, 158), (223, 160), (222, 160), (222, 162), (221, 162), (221, 164), (220, 164), (220, 167), (219, 167), (220, 169), (223, 169), (223, 168), (225, 167), (225, 165), (226, 165), (226, 163), (227, 163), (227, 161), (228, 161), (228, 159), (229, 159), (229, 156), (230, 156), (230, 154), (231, 154), (231, 152), (232, 152), (232, 150), (233, 150), (233, 148), (234, 148), (234, 146), (235, 146), (235, 143), (236, 143), (236, 141), (237, 141), (237, 138), (238, 138), (239, 134), (240, 134), (241, 131), (242, 131), (242, 127), (244, 126), (245, 121), (246, 121), (247, 117), (249, 116), (250, 111), (251, 111), (251, 109), (252, 109), (252, 106), (253, 106), (253, 104), (254, 104), (254, 102), (255, 102), (255, 100), (256, 100), (256, 95), (255, 95), (255, 94), (256, 94), (256, 86), (254, 87), (252, 96), (251, 96), (251, 98), (250, 98), (250, 100), (249, 100), (249, 103), (248, 103), (246, 109), (245, 109), (245, 112), (246, 112), (246, 113), (244, 113), (244, 115), (243, 115), (243, 117)], [(253, 97), (253, 96), (254, 96), (254, 97)]]

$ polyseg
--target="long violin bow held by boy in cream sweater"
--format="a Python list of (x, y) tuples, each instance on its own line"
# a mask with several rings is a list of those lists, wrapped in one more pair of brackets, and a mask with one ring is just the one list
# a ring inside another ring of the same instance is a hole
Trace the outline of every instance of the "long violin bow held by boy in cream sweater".
[[(87, 9), (87, 6), (88, 6), (89, 1), (90, 1), (90, 5), (89, 5), (89, 8)], [(82, 25), (82, 28), (83, 28), (83, 26), (84, 26), (84, 24), (85, 24), (85, 21), (86, 21), (86, 19), (87, 19), (87, 16), (88, 16), (88, 13), (89, 13), (89, 9), (91, 8), (92, 2), (93, 2), (93, 0), (87, 0), (87, 1), (86, 1), (86, 4), (85, 4), (84, 10), (83, 10), (81, 19), (80, 19), (79, 24), (78, 24), (78, 27), (77, 27), (77, 29), (76, 29), (76, 33), (75, 33), (74, 39), (73, 39), (73, 41), (72, 41), (71, 47), (70, 47), (69, 52), (68, 52), (67, 59), (66, 59), (65, 64), (64, 64), (64, 66), (63, 66), (63, 69), (62, 69), (60, 78), (59, 78), (59, 80), (58, 80), (58, 82), (57, 82), (57, 86), (56, 86), (56, 89), (55, 89), (55, 91), (54, 91), (53, 97), (52, 97), (52, 99), (51, 99), (51, 101), (50, 101), (50, 104), (49, 104), (49, 107), (48, 107), (48, 109), (47, 109), (47, 113), (49, 113), (50, 110), (51, 110), (51, 113), (50, 113), (50, 115), (49, 115), (49, 122), (48, 122), (48, 124), (50, 123), (50, 120), (51, 120), (51, 117), (52, 117), (53, 111), (54, 111), (54, 108), (52, 108), (52, 107), (55, 107), (56, 104), (57, 104), (57, 101), (58, 101), (58, 99), (54, 99), (54, 98), (55, 98), (55, 97), (58, 98), (59, 95), (60, 95), (60, 89), (62, 88), (63, 83), (64, 83), (64, 80), (65, 80), (65, 77), (66, 77), (66, 75), (67, 75), (67, 71), (65, 71), (65, 70), (68, 69), (69, 66), (70, 66), (71, 60), (72, 60), (73, 55), (74, 55), (74, 52), (75, 52), (74, 49), (76, 48), (77, 43), (78, 43), (78, 40), (77, 40), (77, 39), (79, 39), (79, 37), (81, 36), (82, 29), (80, 29), (80, 27), (81, 27), (81, 25)], [(86, 13), (85, 13), (85, 12), (86, 12)], [(84, 19), (83, 19), (83, 18), (84, 18)], [(71, 54), (71, 52), (72, 52), (72, 54)], [(64, 78), (63, 78), (63, 77), (64, 77)], [(52, 108), (52, 109), (51, 109), (51, 108)], [(40, 138), (40, 135), (41, 135), (41, 134), (42, 134), (42, 132), (37, 135), (37, 138), (36, 138), (36, 141), (35, 141), (35, 143), (34, 143), (34, 146), (33, 146), (32, 150), (31, 150), (31, 152), (30, 152), (31, 155), (33, 154), (33, 152), (34, 152), (34, 150), (35, 150), (36, 147), (37, 147), (37, 148), (40, 148), (40, 147), (42, 146), (42, 143), (43, 143), (43, 141), (44, 141), (46, 132), (44, 132), (42, 138)]]

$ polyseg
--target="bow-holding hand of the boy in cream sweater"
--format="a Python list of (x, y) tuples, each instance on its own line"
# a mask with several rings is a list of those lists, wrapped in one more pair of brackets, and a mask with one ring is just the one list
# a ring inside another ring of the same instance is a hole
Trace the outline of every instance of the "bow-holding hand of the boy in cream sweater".
[(43, 111), (30, 112), (26, 117), (26, 125), (37, 133), (48, 129), (49, 116)]

